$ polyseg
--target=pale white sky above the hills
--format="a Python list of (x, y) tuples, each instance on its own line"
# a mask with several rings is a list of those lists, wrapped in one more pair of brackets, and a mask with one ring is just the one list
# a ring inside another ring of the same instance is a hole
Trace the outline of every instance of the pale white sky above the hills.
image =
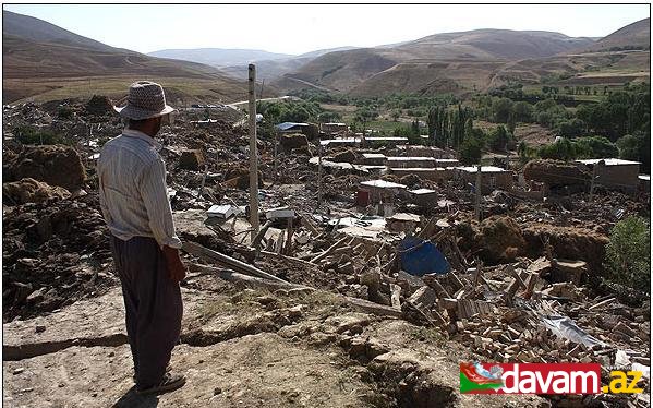
[(604, 37), (650, 16), (649, 4), (4, 4), (4, 10), (144, 53), (243, 48), (300, 55), (477, 28)]

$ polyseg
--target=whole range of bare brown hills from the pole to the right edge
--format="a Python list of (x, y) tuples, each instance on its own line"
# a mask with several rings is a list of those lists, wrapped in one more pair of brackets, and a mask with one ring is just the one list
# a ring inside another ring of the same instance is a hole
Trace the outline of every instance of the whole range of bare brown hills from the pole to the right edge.
[(274, 84), (285, 91), (318, 87), (359, 96), (460, 95), (510, 82), (617, 86), (650, 81), (649, 23), (642, 20), (597, 41), (506, 29), (436, 34), (395, 46), (327, 53)]

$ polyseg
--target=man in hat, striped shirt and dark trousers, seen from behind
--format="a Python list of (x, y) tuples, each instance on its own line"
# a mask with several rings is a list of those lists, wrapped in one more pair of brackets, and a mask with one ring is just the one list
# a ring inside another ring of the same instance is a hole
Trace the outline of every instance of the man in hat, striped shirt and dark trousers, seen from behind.
[(147, 81), (133, 83), (126, 106), (114, 109), (128, 127), (101, 149), (100, 206), (122, 285), (136, 389), (158, 394), (185, 383), (183, 375), (167, 370), (181, 331), (179, 283), (186, 269), (179, 256), (161, 144), (154, 140), (174, 109), (166, 105), (161, 85)]

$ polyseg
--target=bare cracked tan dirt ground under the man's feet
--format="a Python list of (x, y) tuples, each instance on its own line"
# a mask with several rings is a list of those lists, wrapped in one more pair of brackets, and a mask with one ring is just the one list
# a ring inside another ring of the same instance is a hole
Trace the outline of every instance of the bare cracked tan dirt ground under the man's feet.
[[(188, 384), (160, 397), (141, 397), (133, 389), (119, 290), (5, 324), (3, 374), (10, 381), (3, 401), (12, 407), (484, 404), (486, 397), (458, 393), (458, 359), (467, 352), (436, 331), (353, 311), (329, 292), (227, 293), (183, 291), (184, 334), (172, 365), (185, 372)], [(532, 396), (493, 399), (511, 407), (549, 406)]]

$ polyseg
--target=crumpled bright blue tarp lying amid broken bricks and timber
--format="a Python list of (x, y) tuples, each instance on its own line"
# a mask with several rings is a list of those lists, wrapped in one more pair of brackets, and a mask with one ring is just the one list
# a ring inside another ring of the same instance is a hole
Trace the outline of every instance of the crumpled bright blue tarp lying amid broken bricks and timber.
[(411, 275), (444, 275), (451, 269), (445, 255), (431, 241), (416, 237), (406, 237), (397, 248), (401, 261), (401, 269)]

